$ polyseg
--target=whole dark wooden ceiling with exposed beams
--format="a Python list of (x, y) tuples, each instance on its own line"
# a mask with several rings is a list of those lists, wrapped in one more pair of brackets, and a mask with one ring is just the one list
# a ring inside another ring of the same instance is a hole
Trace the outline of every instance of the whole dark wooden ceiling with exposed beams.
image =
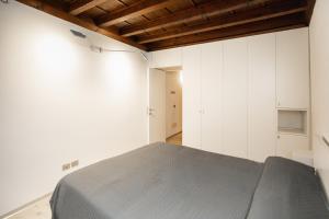
[(316, 0), (18, 0), (143, 50), (309, 24)]

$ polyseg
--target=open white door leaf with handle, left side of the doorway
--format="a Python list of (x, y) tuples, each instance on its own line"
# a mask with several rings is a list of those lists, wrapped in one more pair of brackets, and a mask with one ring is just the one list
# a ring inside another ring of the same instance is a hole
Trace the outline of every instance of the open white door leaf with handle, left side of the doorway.
[(149, 142), (166, 141), (166, 72), (149, 71)]

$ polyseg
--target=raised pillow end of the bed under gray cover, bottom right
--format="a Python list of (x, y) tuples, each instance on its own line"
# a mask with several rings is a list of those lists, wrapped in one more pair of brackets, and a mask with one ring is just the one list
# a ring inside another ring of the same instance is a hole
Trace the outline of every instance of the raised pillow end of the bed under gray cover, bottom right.
[(329, 219), (314, 169), (283, 158), (268, 158), (248, 219)]

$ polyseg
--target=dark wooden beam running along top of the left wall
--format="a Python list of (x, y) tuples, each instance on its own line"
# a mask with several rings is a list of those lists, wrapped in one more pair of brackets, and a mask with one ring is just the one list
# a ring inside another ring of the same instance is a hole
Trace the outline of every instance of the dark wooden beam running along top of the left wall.
[(60, 9), (57, 9), (52, 4), (45, 3), (43, 0), (18, 0), (18, 1), (21, 2), (21, 3), (24, 3), (26, 5), (33, 7), (37, 10), (39, 10), (39, 11), (45, 12), (45, 13), (52, 14), (52, 15), (57, 16), (59, 19), (63, 19), (65, 21), (68, 21), (68, 22), (71, 22), (73, 24), (77, 24), (79, 26), (82, 26), (84, 28), (88, 28), (90, 31), (94, 31), (94, 32), (98, 32), (98, 33), (103, 34), (105, 36), (109, 36), (110, 38), (120, 41), (122, 43), (128, 44), (131, 46), (134, 46), (134, 47), (143, 49), (143, 50), (147, 50), (147, 48), (145, 46), (143, 46), (140, 44), (137, 44), (136, 42), (133, 42), (133, 41), (131, 41), (126, 37), (123, 37), (123, 36), (118, 35), (117, 33), (111, 32), (106, 28), (101, 28), (101, 27), (94, 25), (91, 22), (88, 22), (88, 21), (81, 20), (77, 16), (73, 16), (72, 14), (70, 14), (68, 12), (65, 12)]

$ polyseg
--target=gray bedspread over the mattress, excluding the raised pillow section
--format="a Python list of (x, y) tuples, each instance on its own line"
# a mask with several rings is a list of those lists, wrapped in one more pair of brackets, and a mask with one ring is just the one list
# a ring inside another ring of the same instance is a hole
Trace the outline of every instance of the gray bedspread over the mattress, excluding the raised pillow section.
[(64, 177), (53, 219), (245, 219), (262, 164), (155, 143)]

